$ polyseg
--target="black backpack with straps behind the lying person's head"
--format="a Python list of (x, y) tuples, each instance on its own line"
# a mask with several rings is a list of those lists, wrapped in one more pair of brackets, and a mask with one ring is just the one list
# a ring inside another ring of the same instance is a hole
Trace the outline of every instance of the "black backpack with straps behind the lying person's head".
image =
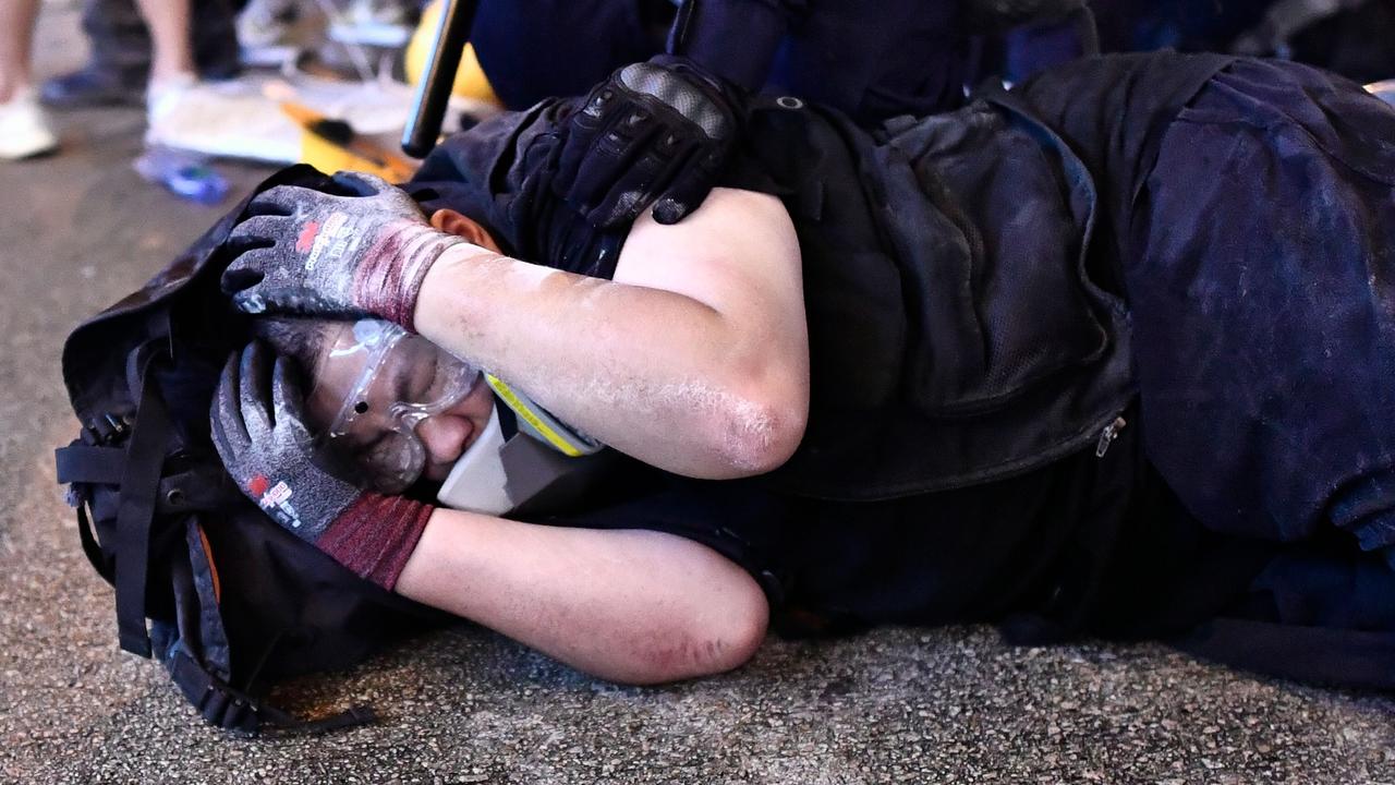
[[(255, 191), (287, 183), (335, 190), (293, 166)], [(163, 662), (208, 722), (250, 733), (368, 722), (361, 707), (300, 721), (265, 697), (279, 679), (349, 666), (445, 615), (282, 529), (213, 450), (213, 388), (250, 339), (219, 291), (233, 256), (225, 239), (246, 205), (68, 335), (63, 380), (82, 430), (57, 450), (57, 476), (70, 483), (82, 550), (116, 587), (121, 648)]]

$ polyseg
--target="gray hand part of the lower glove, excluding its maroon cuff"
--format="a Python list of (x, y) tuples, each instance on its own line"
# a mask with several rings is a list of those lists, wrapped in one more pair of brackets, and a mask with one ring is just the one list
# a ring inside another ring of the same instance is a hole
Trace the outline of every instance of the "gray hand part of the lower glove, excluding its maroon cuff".
[(363, 492), (311, 461), (303, 401), (287, 360), (261, 342), (250, 344), (223, 367), (212, 432), (237, 487), (283, 528), (314, 543)]

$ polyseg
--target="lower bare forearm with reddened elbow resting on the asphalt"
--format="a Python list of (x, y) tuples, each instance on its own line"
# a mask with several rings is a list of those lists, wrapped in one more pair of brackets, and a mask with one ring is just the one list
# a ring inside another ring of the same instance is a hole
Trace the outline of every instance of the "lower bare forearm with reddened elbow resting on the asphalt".
[(767, 617), (755, 581), (695, 542), (455, 510), (432, 515), (396, 591), (624, 683), (735, 668)]

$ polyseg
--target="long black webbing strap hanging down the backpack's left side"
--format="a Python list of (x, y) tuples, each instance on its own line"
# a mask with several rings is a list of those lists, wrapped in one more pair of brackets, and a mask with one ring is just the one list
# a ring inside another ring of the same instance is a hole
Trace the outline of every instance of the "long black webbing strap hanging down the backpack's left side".
[(126, 450), (121, 474), (121, 499), (116, 510), (116, 624), (121, 648), (141, 656), (151, 655), (151, 637), (145, 629), (145, 575), (151, 556), (151, 524), (170, 433), (169, 415), (155, 384), (152, 363), (141, 374), (141, 404), (135, 430)]

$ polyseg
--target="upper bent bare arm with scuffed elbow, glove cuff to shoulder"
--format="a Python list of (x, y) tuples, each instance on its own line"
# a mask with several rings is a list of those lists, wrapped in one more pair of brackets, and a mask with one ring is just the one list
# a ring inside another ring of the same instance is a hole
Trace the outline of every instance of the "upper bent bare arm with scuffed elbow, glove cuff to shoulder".
[(640, 219), (614, 281), (460, 246), (427, 274), (414, 318), (427, 338), (667, 471), (762, 474), (804, 437), (799, 247), (774, 197), (718, 189), (674, 226)]

